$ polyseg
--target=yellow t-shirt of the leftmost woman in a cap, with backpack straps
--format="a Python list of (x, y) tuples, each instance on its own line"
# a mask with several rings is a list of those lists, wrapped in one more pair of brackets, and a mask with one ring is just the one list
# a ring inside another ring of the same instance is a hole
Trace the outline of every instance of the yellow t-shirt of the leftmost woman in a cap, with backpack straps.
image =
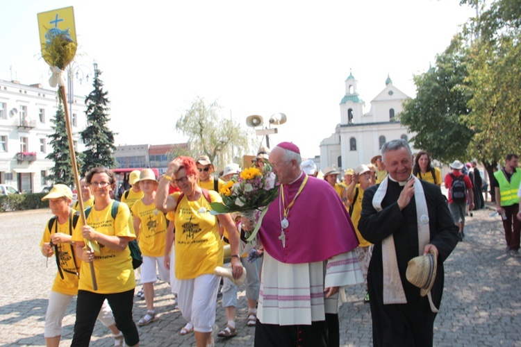
[[(71, 211), (71, 214), (66, 223), (60, 224), (58, 222), (58, 218), (56, 218), (53, 222), (52, 230), (49, 230), (49, 223), (45, 226), (45, 230), (43, 233), (42, 241), (40, 242), (40, 248), (42, 248), (45, 242), (51, 241), (51, 235), (56, 232), (62, 232), (65, 235), (70, 235), (72, 230), (72, 226), (70, 223), (72, 222), (72, 215), (74, 214), (74, 210)], [(80, 223), (78, 223), (80, 224)], [(52, 291), (56, 291), (60, 294), (65, 295), (76, 295), (78, 294), (78, 276), (75, 275), (79, 268), (81, 260), (76, 259), (76, 264), (74, 264), (73, 252), (74, 246), (71, 244), (58, 244), (58, 257), (60, 259), (60, 267), (63, 273), (63, 279), (60, 276), (60, 271), (56, 271), (56, 276), (54, 277)], [(55, 248), (53, 248), (54, 250)], [(54, 255), (56, 257), (56, 254)], [(55, 262), (56, 260), (49, 260), (49, 262)]]

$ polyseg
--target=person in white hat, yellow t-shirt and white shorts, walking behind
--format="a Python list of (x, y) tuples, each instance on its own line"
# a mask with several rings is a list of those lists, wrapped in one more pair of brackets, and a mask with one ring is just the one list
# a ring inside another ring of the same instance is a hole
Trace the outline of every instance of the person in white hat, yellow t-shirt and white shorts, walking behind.
[(167, 220), (165, 214), (156, 210), (156, 205), (154, 205), (156, 188), (158, 187), (154, 171), (142, 169), (138, 182), (144, 196), (142, 199), (135, 201), (131, 211), (134, 215), (135, 235), (139, 239), (143, 255), (143, 264), (140, 266), (140, 282), (143, 285), (147, 314), (138, 321), (138, 325), (143, 326), (157, 320), (156, 312), (154, 311), (154, 282), (158, 280), (156, 271), (159, 271), (159, 278), (165, 282), (169, 282), (169, 273), (163, 262), (167, 237)]

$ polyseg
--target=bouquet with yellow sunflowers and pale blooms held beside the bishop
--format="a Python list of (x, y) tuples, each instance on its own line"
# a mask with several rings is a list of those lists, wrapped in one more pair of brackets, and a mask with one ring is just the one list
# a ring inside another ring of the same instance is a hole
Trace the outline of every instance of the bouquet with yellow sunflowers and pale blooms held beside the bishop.
[(267, 211), (267, 205), (279, 195), (278, 179), (272, 166), (266, 163), (263, 170), (256, 167), (244, 169), (240, 175), (234, 176), (220, 190), (223, 203), (210, 203), (213, 214), (239, 212), (244, 217), (254, 220), (256, 211), (260, 217), (254, 230), (247, 235), (251, 241), (257, 235), (261, 221)]

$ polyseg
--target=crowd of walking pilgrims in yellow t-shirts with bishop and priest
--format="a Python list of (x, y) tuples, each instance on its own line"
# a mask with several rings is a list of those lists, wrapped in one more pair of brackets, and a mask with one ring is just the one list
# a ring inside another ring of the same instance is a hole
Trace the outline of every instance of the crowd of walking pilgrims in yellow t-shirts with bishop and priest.
[[(513, 256), (521, 228), (517, 160), (507, 156), (493, 181)], [(75, 295), (72, 346), (89, 345), (96, 319), (113, 332), (115, 346), (139, 346), (136, 325), (159, 318), (157, 280), (170, 283), (186, 321), (179, 334), (193, 332), (197, 346), (213, 346), (216, 336), (240, 332), (240, 278), (246, 278), (245, 325), (255, 328), (256, 346), (339, 346), (343, 288), (358, 283), (365, 284), (362, 300), (370, 304), (374, 346), (431, 346), (443, 262), (463, 241), (465, 216), (484, 205), (476, 162), (467, 167), (454, 161), (442, 180), (429, 153), (413, 156), (399, 139), (384, 144), (370, 163), (343, 173), (335, 167), (319, 171), (291, 142), (271, 151), (261, 147), (252, 165), (262, 169), (267, 163), (279, 194), (261, 222), (258, 214), (210, 213), (210, 203), (222, 203), (220, 189), (241, 169), (230, 163), (217, 173), (206, 155), (178, 157), (160, 178), (151, 169), (133, 171), (121, 203), (113, 200), (113, 171), (92, 169), (81, 179), (85, 225), (71, 189), (54, 185), (43, 199), (55, 217), (40, 244), (58, 266), (45, 322), (47, 346), (59, 345)], [(245, 235), (256, 223), (252, 244)], [(142, 252), (136, 270), (128, 246), (133, 239)], [(224, 279), (216, 274), (223, 266)], [(137, 282), (142, 290), (136, 294)], [(215, 324), (219, 292), (226, 312), (222, 328)], [(147, 306), (138, 322), (132, 316), (135, 295)]]

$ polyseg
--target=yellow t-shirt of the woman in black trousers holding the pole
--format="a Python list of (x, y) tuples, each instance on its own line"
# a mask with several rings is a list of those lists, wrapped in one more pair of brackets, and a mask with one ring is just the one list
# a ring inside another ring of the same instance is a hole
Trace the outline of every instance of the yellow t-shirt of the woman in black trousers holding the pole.
[[(87, 217), (87, 224), (97, 232), (104, 235), (130, 237), (135, 239), (135, 235), (129, 228), (130, 210), (124, 203), (119, 204), (116, 219), (113, 219), (111, 210), (114, 201), (108, 204), (104, 210), (97, 211), (95, 208), (90, 210)], [(83, 242), (81, 235), (81, 223), (76, 225), (72, 239), (75, 242)], [(94, 262), (85, 264), (82, 262), (80, 269), (79, 289), (94, 291), (92, 288), (92, 278), (90, 276), (90, 266), (94, 264), (94, 272), (99, 294), (122, 293), (135, 288), (134, 269), (132, 267), (132, 257), (129, 247), (123, 251), (117, 251), (99, 244), (100, 253), (94, 253)]]

